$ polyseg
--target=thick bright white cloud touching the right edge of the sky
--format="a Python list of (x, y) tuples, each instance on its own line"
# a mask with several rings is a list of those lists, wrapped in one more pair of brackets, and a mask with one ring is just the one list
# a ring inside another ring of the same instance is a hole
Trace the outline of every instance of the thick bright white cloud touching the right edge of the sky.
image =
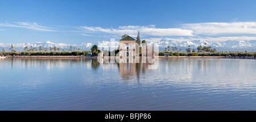
[(182, 28), (195, 35), (256, 34), (255, 22), (192, 23), (183, 24)]

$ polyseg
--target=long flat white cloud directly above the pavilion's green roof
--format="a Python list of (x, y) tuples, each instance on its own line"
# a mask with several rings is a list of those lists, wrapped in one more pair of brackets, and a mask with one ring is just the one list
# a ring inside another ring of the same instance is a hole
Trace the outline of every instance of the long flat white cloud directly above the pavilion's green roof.
[(101, 27), (80, 27), (84, 33), (110, 33), (114, 35), (128, 34), (137, 36), (138, 31), (144, 36), (194, 36), (191, 30), (180, 28), (155, 28), (150, 26), (119, 26), (118, 28), (101, 28)]

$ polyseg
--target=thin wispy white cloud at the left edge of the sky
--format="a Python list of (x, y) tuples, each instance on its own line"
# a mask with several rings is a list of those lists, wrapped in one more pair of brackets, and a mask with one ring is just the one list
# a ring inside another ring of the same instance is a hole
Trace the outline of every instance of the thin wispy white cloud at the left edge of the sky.
[(5, 24), (0, 24), (0, 27), (18, 27), (18, 28), (27, 28), (30, 30), (36, 30), (36, 31), (56, 31), (56, 28), (51, 27), (45, 27), (45, 26), (39, 26), (36, 23), (28, 23), (28, 22), (15, 22), (13, 24), (9, 24), (6, 22)]

